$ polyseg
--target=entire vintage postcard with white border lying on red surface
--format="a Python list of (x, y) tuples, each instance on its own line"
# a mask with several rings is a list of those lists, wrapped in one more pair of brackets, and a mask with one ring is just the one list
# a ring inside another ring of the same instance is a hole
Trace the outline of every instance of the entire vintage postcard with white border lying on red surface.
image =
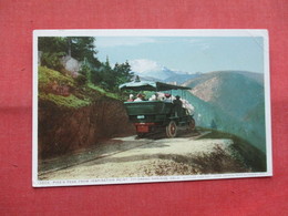
[(35, 30), (34, 187), (272, 175), (267, 30)]

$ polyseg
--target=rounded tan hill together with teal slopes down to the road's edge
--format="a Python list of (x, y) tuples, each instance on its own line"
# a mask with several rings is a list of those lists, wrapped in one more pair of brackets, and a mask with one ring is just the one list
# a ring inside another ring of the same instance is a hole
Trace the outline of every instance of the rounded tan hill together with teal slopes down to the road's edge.
[(263, 74), (210, 72), (184, 85), (192, 88), (188, 100), (198, 125), (234, 133), (266, 151)]

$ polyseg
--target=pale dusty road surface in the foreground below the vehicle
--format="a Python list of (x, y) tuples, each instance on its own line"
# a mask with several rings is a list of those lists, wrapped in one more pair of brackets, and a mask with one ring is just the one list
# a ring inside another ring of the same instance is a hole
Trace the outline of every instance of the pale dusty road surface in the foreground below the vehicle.
[[(200, 135), (158, 140), (136, 140), (135, 136), (113, 138), (95, 150), (79, 154), (74, 163), (71, 160), (73, 156), (45, 162), (47, 166), (42, 164), (39, 178), (52, 181), (194, 175), (215, 173), (217, 171), (214, 169), (219, 168), (217, 166), (227, 166), (220, 167), (218, 172), (223, 168), (224, 172), (243, 169), (232, 156), (232, 140), (198, 140)], [(58, 163), (58, 167), (49, 166), (53, 163)]]

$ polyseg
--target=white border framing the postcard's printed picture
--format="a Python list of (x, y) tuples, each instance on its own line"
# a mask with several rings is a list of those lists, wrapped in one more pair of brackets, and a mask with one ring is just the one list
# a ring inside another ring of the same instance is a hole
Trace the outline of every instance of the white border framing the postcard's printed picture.
[[(263, 37), (265, 74), (265, 121), (267, 172), (188, 176), (123, 177), (96, 179), (38, 179), (38, 38), (39, 37)], [(83, 186), (107, 184), (162, 183), (179, 181), (226, 179), (272, 176), (270, 73), (268, 31), (264, 29), (101, 29), (101, 30), (34, 30), (33, 31), (33, 114), (32, 114), (32, 186)]]

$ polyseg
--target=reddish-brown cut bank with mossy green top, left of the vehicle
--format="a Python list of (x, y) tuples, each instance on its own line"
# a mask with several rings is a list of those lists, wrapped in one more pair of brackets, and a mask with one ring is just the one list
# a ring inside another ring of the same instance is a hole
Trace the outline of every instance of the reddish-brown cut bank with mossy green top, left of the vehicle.
[(39, 68), (38, 113), (40, 158), (134, 132), (115, 95), (95, 86), (80, 86), (71, 76), (42, 66)]

